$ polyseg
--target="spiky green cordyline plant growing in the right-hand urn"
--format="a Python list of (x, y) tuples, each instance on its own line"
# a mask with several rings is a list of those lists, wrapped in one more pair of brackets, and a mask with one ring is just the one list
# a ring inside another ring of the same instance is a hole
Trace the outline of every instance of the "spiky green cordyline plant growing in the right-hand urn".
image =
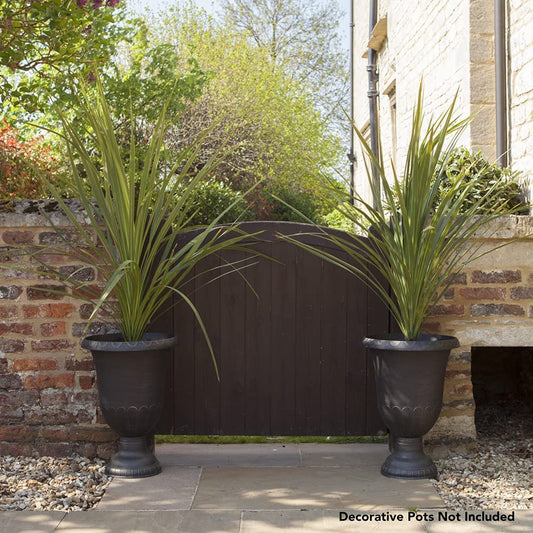
[[(501, 191), (497, 183), (472, 202), (472, 191), (480, 188), (482, 179), (475, 175), (441, 187), (452, 150), (469, 122), (454, 118), (456, 98), (424, 128), (420, 87), (401, 177), (392, 165), (388, 179), (381, 146), (374, 154), (354, 127), (364, 151), (372, 205), (354, 194), (353, 205), (337, 202), (337, 209), (351, 220), (356, 232), (368, 232), (368, 238), (319, 233), (346, 252), (349, 260), (317, 250), (299, 241), (297, 235), (281, 236), (365, 281), (387, 305), (406, 340), (418, 338), (424, 320), (454, 275), (488, 253), (482, 252), (481, 244), (472, 237), (489, 222), (516, 211), (516, 207), (494, 201)], [(494, 207), (490, 211), (480, 209), (485, 205)]]

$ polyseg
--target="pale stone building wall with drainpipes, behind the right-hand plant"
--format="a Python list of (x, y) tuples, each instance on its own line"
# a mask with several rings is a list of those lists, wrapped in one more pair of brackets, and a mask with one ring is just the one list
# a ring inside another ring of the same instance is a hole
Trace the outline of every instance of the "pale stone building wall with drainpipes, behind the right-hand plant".
[[(496, 106), (493, 0), (380, 0), (378, 19), (387, 19), (386, 38), (377, 54), (379, 121), (385, 163), (394, 159), (400, 173), (411, 131), (412, 108), (420, 80), (425, 109), (438, 115), (452, 102), (456, 115), (473, 115), (458, 144), (496, 158)], [(354, 109), (355, 124), (368, 124), (368, 7), (355, 2)], [(525, 173), (533, 198), (533, 10), (528, 0), (508, 0), (509, 141), (513, 169)], [(391, 95), (396, 102), (395, 126)], [(393, 141), (393, 131), (396, 140)], [(365, 166), (358, 143), (356, 189), (370, 198)]]

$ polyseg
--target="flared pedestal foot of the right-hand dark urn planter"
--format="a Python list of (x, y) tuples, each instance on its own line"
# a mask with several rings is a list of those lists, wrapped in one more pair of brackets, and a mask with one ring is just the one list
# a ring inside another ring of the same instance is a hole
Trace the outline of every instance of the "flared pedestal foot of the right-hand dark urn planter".
[(395, 437), (393, 452), (381, 467), (386, 477), (436, 479), (437, 467), (423, 451), (422, 437)]

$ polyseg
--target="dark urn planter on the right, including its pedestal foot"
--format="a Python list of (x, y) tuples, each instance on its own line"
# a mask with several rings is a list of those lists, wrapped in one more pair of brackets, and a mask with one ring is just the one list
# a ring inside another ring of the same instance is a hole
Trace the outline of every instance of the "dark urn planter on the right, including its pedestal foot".
[(437, 468), (423, 450), (422, 437), (433, 427), (442, 407), (446, 363), (455, 337), (402, 334), (363, 341), (374, 362), (378, 410), (391, 434), (391, 451), (381, 467), (387, 477), (427, 479)]

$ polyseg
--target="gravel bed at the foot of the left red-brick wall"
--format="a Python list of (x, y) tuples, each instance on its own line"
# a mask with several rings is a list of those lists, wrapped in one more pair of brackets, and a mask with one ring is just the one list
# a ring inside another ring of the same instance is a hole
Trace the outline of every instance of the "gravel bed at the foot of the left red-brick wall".
[(0, 511), (84, 511), (111, 478), (105, 462), (85, 457), (0, 456)]

